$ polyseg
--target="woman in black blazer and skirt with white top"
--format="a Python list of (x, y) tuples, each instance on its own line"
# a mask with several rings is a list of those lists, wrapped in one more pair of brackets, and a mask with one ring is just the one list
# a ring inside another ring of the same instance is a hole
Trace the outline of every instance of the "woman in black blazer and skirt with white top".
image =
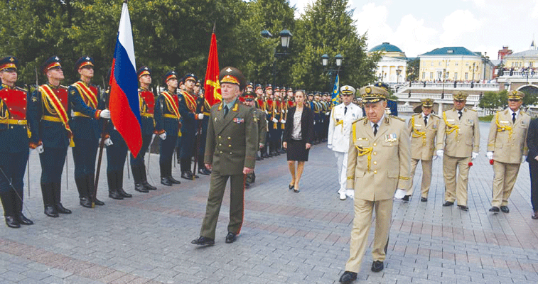
[(282, 146), (288, 154), (291, 173), (289, 189), (299, 192), (299, 180), (303, 175), (304, 162), (308, 161), (308, 151), (314, 137), (314, 119), (312, 110), (304, 104), (304, 92), (297, 90), (294, 97), (296, 106), (288, 110)]

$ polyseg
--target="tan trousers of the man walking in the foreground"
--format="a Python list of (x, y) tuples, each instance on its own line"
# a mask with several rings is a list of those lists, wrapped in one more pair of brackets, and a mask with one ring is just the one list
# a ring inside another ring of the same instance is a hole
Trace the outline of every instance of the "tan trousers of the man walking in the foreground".
[[(355, 197), (355, 218), (350, 239), (350, 258), (345, 263), (345, 271), (359, 272), (362, 257), (365, 255), (372, 212), (375, 209), (375, 235), (372, 258), (374, 261), (384, 261), (387, 256), (390, 220), (392, 218), (392, 198), (389, 200), (367, 201)], [(374, 208), (375, 207), (375, 208)]]

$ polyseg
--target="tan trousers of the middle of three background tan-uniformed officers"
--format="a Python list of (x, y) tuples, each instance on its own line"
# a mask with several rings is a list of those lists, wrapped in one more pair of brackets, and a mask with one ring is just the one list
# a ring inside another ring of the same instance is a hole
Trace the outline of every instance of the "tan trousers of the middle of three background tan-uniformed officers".
[[(445, 201), (458, 201), (458, 205), (467, 206), (467, 183), (469, 178), (470, 157), (456, 158), (443, 155), (443, 177), (445, 178)], [(456, 183), (456, 170), (458, 182)]]

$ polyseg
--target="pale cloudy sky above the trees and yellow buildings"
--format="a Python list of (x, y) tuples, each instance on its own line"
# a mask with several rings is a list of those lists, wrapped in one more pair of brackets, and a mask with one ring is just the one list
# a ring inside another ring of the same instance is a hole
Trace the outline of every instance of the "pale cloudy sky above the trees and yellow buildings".
[[(296, 17), (313, 3), (289, 1)], [(517, 53), (529, 50), (533, 39), (537, 43), (537, 0), (350, 0), (349, 5), (357, 31), (367, 32), (368, 50), (388, 42), (414, 58), (435, 48), (463, 46), (496, 60), (503, 45)]]

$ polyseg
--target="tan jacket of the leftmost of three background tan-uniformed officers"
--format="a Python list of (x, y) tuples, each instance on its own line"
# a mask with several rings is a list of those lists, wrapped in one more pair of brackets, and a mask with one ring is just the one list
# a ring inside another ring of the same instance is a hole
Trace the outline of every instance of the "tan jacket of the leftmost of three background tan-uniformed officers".
[[(445, 122), (439, 116), (430, 114), (428, 124), (424, 126), (422, 114), (415, 114), (407, 126), (411, 135), (411, 158), (431, 160), (436, 150), (443, 149)], [(441, 143), (436, 143), (438, 141)]]

